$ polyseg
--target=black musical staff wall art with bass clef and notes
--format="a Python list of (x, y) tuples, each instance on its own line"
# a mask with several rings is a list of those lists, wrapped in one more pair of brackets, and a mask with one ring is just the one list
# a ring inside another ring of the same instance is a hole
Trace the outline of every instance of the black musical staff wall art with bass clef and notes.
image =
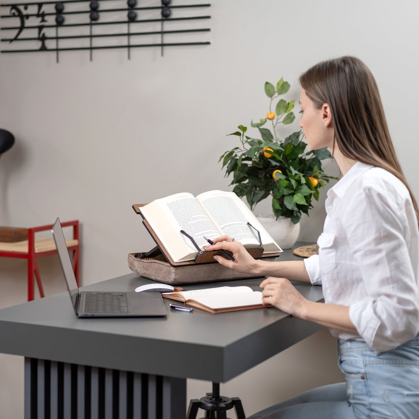
[[(0, 4), (1, 52), (208, 45), (210, 4), (174, 0), (63, 0)], [(157, 3), (157, 4), (156, 4)], [(8, 13), (8, 14), (7, 14)], [(10, 34), (10, 35), (9, 35)], [(193, 38), (191, 39), (191, 37)], [(18, 49), (16, 49), (18, 47)]]

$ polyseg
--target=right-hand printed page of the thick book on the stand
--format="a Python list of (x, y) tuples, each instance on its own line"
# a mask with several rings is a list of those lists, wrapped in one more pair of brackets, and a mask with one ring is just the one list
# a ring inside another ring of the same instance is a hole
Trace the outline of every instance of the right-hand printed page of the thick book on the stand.
[(235, 241), (240, 241), (244, 246), (258, 245), (258, 233), (247, 225), (247, 222), (250, 222), (261, 234), (264, 253), (282, 251), (251, 210), (233, 192), (204, 192), (198, 195), (196, 199), (207, 212), (209, 219), (222, 231), (223, 235), (233, 237)]

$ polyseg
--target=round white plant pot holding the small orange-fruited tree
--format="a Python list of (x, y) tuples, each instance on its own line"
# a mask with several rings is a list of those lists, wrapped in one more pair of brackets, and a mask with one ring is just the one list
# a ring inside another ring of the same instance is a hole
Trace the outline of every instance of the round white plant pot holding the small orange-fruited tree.
[(256, 218), (282, 250), (295, 245), (300, 234), (300, 222), (294, 224), (291, 218), (287, 217), (279, 217), (276, 220), (274, 215), (256, 215)]

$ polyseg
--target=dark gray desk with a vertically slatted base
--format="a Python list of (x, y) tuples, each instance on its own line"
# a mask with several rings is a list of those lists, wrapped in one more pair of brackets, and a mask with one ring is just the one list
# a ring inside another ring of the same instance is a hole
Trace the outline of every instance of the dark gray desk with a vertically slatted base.
[[(294, 259), (302, 260), (289, 250), (279, 260)], [(83, 290), (132, 291), (149, 282), (132, 273)], [(260, 282), (185, 289), (248, 285), (259, 290)], [(295, 285), (309, 300), (323, 300), (321, 287)], [(185, 417), (186, 378), (228, 381), (321, 328), (276, 308), (77, 318), (62, 292), (0, 310), (0, 352), (25, 357), (26, 418), (176, 419)]]

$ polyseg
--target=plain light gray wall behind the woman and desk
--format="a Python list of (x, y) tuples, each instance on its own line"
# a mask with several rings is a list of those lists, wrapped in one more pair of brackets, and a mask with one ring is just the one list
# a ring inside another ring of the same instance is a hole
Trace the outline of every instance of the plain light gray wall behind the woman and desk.
[[(133, 50), (130, 61), (116, 50), (95, 52), (93, 62), (87, 52), (67, 52), (59, 64), (54, 54), (1, 54), (0, 127), (13, 132), (16, 145), (0, 159), (0, 225), (79, 219), (83, 285), (128, 273), (127, 253), (153, 246), (131, 205), (181, 191), (231, 190), (217, 160), (235, 146), (226, 134), (266, 114), (265, 81), (284, 76), (292, 85), (288, 100), (298, 98), (300, 72), (344, 54), (363, 59), (375, 75), (417, 195), (419, 146), (411, 138), (418, 12), (413, 0), (215, 1), (212, 30), (202, 36), (212, 44), (168, 48), (163, 58), (158, 49)], [(282, 134), (292, 128), (297, 121)], [(338, 173), (333, 163), (326, 168)], [(324, 198), (322, 191), (303, 219), (300, 240), (314, 242), (321, 233)], [(268, 210), (269, 203), (256, 208)], [(54, 257), (41, 259), (39, 268), (48, 295), (62, 290), (54, 283)], [(26, 300), (24, 261), (0, 259), (0, 277), (0, 307)], [(251, 414), (342, 380), (334, 344), (321, 331), (222, 392), (243, 398)], [(1, 355), (0, 418), (22, 417), (22, 379), (22, 359)], [(209, 383), (189, 380), (189, 398), (206, 391)]]

